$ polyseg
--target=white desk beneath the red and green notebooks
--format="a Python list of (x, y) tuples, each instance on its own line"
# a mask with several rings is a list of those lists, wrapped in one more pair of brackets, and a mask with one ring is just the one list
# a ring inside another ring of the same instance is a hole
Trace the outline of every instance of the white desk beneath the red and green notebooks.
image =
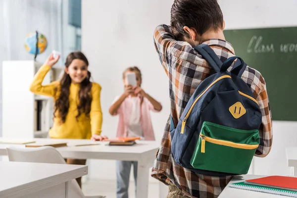
[[(259, 176), (259, 175), (244, 175), (244, 176), (236, 176), (234, 177), (230, 183), (237, 183), (237, 182), (243, 182), (247, 179), (256, 179), (260, 177), (265, 176)], [(247, 190), (241, 190), (231, 187), (226, 187), (219, 198), (286, 198), (284, 196), (280, 195), (273, 195), (268, 193), (259, 193), (254, 191), (247, 191)]]

